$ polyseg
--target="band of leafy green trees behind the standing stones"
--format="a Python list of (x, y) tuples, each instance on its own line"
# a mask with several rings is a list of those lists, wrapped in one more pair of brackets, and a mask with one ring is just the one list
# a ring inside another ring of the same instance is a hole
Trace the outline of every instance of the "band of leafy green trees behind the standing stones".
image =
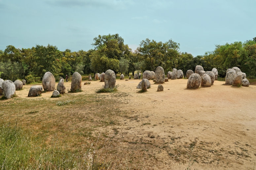
[(201, 56), (192, 56), (179, 51), (179, 43), (172, 41), (157, 42), (145, 39), (132, 52), (124, 39), (118, 34), (99, 35), (93, 39), (94, 49), (72, 52), (69, 49), (59, 51), (56, 46), (36, 45), (28, 49), (18, 49), (13, 45), (0, 50), (0, 78), (15, 81), (27, 76), (40, 77), (50, 71), (56, 80), (60, 76), (101, 73), (107, 69), (116, 74), (128, 75), (130, 72), (145, 70), (155, 71), (162, 66), (165, 73), (172, 68), (195, 70), (196, 65), (210, 71), (217, 68), (220, 77), (225, 77), (226, 70), (239, 67), (247, 76), (256, 76), (256, 37), (244, 43), (234, 42), (216, 45), (211, 52)]

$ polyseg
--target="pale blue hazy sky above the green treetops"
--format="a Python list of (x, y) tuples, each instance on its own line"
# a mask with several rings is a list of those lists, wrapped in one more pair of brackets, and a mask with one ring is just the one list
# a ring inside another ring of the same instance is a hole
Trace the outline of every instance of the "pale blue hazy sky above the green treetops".
[(119, 34), (133, 51), (146, 38), (172, 39), (196, 57), (256, 37), (255, 7), (256, 0), (0, 0), (0, 50), (88, 51), (94, 37)]

